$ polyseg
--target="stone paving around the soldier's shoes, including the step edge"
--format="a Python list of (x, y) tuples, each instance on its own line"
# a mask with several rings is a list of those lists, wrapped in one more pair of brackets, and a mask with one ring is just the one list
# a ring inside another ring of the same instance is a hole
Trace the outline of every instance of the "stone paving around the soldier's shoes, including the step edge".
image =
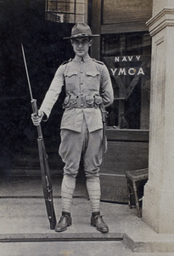
[[(57, 220), (61, 215), (60, 183), (61, 178), (53, 179), (53, 204)], [(137, 217), (136, 208), (129, 209), (126, 204), (102, 201), (101, 214), (109, 225), (109, 233), (98, 232), (90, 225), (91, 207), (87, 200), (84, 183), (76, 184), (71, 211), (73, 224), (62, 233), (49, 229), (40, 178), (6, 177), (2, 179), (0, 210), (0, 247), (4, 247), (5, 242), (8, 242), (10, 247), (12, 242), (39, 241), (46, 244), (51, 241), (70, 241), (70, 243), (87, 241), (86, 244), (89, 244), (98, 241), (99, 245), (107, 241), (108, 245), (110, 243), (111, 250), (113, 242), (120, 241), (124, 245), (121, 247), (122, 250), (124, 247), (124, 253), (122, 252), (121, 255), (174, 255), (174, 235), (157, 234), (143, 222), (142, 218)], [(87, 252), (84, 255), (87, 255)], [(107, 256), (108, 254), (93, 255)]]

